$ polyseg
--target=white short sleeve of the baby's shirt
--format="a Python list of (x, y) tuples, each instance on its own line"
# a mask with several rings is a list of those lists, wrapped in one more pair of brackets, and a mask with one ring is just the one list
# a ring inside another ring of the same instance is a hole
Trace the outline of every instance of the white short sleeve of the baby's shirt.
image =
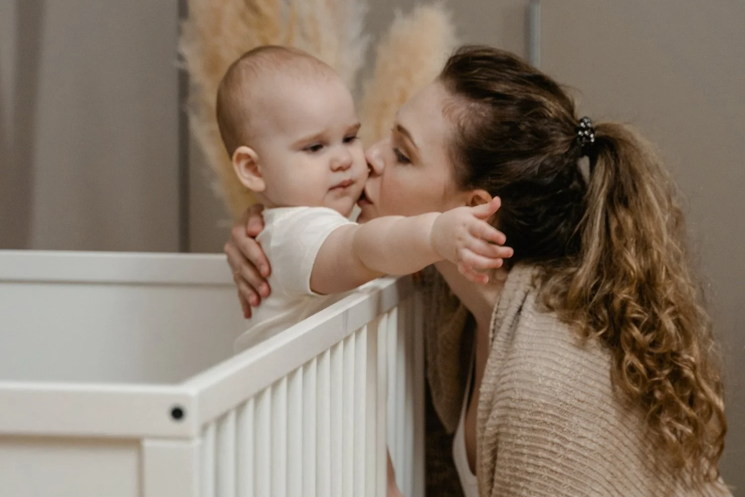
[(272, 266), (272, 291), (291, 296), (316, 295), (311, 291), (311, 273), (321, 245), (335, 229), (354, 223), (326, 207), (276, 210), (284, 212), (268, 220), (264, 215), (272, 231), (268, 246), (264, 245)]

